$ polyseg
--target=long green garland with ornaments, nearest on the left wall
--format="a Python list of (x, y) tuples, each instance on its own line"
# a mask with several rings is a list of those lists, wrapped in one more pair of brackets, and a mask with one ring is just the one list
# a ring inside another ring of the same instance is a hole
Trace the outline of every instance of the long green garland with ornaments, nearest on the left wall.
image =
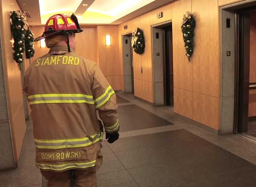
[(11, 30), (13, 33), (13, 58), (17, 63), (22, 63), (24, 61), (23, 53), (25, 52), (25, 32), (24, 29), (24, 17), (20, 12), (13, 11), (10, 14), (11, 16)]

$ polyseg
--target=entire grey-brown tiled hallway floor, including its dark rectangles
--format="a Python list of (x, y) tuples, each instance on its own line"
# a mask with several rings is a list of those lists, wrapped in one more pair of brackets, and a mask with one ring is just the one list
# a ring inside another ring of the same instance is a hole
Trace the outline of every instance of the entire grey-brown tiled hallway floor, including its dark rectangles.
[[(118, 93), (120, 139), (102, 142), (98, 187), (255, 187), (256, 144), (181, 119), (171, 108), (153, 107)], [(35, 167), (28, 121), (19, 167), (0, 172), (1, 187), (46, 187)]]

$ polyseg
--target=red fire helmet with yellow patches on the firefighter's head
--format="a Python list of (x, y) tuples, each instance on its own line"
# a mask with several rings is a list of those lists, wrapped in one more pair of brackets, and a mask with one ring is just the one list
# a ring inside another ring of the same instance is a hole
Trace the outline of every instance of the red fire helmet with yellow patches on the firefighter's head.
[(71, 33), (79, 33), (82, 31), (83, 30), (79, 26), (77, 17), (74, 14), (72, 14), (70, 17), (64, 14), (56, 14), (48, 19), (43, 35), (37, 37), (35, 41), (39, 41), (57, 34), (63, 34), (68, 37), (68, 35)]

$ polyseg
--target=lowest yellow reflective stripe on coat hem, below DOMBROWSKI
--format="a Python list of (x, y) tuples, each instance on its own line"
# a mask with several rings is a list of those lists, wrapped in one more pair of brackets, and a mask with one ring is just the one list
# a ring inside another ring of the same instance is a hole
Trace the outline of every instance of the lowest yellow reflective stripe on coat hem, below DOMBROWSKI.
[(70, 162), (70, 163), (65, 163), (65, 164), (40, 164), (36, 163), (36, 166), (39, 167), (40, 169), (50, 169), (54, 171), (62, 171), (65, 169), (69, 168), (88, 168), (88, 167), (93, 167), (96, 164), (96, 160), (90, 161), (90, 162)]

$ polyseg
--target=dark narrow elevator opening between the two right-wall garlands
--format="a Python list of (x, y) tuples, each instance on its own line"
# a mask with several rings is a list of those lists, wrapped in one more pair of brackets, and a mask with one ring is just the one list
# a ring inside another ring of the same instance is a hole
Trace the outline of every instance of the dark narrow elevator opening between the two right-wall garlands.
[(173, 45), (172, 26), (163, 28), (164, 32), (164, 71), (165, 71), (165, 100), (166, 106), (174, 105), (174, 85), (173, 85)]

